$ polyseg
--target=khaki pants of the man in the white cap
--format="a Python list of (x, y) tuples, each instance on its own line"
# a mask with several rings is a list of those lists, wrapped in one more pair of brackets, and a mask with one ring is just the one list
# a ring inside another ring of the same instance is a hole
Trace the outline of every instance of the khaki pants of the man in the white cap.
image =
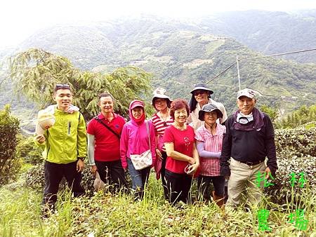
[[(265, 162), (258, 165), (246, 165), (231, 158), (227, 205), (237, 208), (244, 191), (247, 191), (246, 197), (251, 203), (259, 203), (263, 191), (265, 168)], [(258, 172), (261, 172), (262, 177), (260, 187), (258, 187), (258, 181), (256, 180)]]

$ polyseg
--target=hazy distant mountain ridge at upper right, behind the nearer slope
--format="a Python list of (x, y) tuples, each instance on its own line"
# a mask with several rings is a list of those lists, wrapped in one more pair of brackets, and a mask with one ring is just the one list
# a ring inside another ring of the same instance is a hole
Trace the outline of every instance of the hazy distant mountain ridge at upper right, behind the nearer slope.
[[(316, 10), (297, 13), (244, 11), (205, 17), (206, 32), (230, 36), (265, 55), (316, 48)], [(284, 56), (297, 62), (316, 63), (316, 52)]]

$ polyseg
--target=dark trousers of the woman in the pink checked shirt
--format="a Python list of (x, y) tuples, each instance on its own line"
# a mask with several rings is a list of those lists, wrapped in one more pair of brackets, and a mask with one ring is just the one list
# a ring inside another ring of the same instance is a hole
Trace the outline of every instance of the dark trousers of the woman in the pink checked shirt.
[(224, 196), (225, 177), (224, 176), (204, 176), (199, 175), (197, 178), (197, 189), (199, 198), (211, 200), (210, 184), (213, 183), (216, 196)]

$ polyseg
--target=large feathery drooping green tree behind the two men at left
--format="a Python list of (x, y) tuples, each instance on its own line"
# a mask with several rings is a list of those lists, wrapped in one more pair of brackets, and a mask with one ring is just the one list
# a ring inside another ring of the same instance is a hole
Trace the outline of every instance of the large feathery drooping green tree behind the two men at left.
[(115, 108), (127, 116), (129, 103), (144, 97), (150, 89), (151, 75), (138, 67), (121, 67), (111, 74), (84, 72), (72, 66), (66, 57), (40, 49), (29, 49), (11, 59), (11, 79), (15, 92), (24, 93), (41, 107), (53, 104), (53, 88), (67, 83), (86, 120), (98, 114), (98, 94), (110, 92), (117, 99)]

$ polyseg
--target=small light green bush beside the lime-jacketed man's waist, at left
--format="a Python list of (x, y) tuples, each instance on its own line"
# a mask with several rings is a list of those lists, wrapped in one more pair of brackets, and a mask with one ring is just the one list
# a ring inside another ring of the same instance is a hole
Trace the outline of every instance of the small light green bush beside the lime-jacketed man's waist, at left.
[(16, 148), (16, 156), (33, 165), (43, 162), (42, 150), (35, 144), (32, 136), (20, 137)]

